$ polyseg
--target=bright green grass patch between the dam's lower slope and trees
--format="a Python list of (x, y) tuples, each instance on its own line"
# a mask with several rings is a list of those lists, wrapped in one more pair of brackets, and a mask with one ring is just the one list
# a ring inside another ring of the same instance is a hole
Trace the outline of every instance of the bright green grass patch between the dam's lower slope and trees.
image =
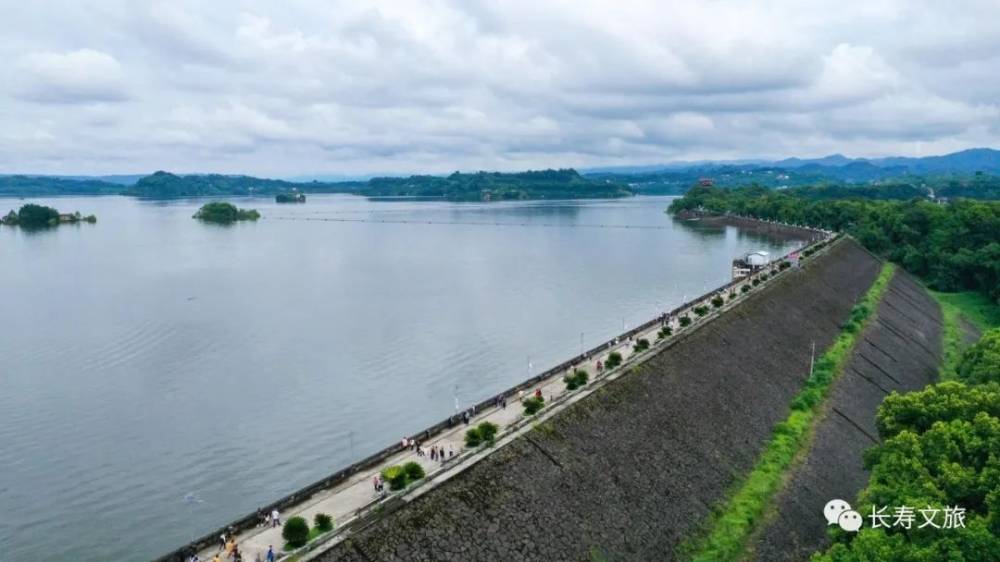
[(986, 295), (974, 291), (939, 293), (928, 290), (927, 292), (941, 305), (941, 317), (944, 322), (941, 342), (944, 363), (941, 365), (941, 380), (955, 380), (955, 366), (969, 343), (962, 327), (962, 320), (972, 324), (980, 332), (1000, 327), (1000, 306)]

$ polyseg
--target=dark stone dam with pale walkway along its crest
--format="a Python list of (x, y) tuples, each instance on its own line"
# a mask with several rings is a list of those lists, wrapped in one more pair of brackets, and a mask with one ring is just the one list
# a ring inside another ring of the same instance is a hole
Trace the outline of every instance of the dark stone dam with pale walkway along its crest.
[[(809, 376), (814, 349), (833, 342), (881, 270), (881, 262), (853, 240), (821, 246), (802, 267), (762, 272), (773, 278), (759, 288), (743, 280), (746, 295), (736, 282), (705, 296), (707, 304), (728, 293), (730, 302), (696, 319), (691, 329), (681, 329), (677, 320), (697, 302), (637, 327), (626, 334), (628, 341), (613, 341), (525, 381), (518, 388), (537, 389), (551, 400), (544, 415), (526, 418), (516, 402), (484, 413), (482, 419), (507, 430), (496, 448), (465, 452), (454, 465), (449, 458), (440, 471), (429, 465), (434, 473), (412, 490), (370, 496), (370, 478), (377, 474), (372, 466), (413, 457), (397, 447), (283, 499), (283, 508), (308, 517), (333, 513), (340, 523), (326, 540), (297, 552), (297, 560), (684, 559), (682, 543), (704, 526), (787, 416)], [(633, 338), (651, 337), (664, 325), (676, 330), (668, 342), (644, 355), (630, 350)], [(582, 393), (559, 394), (561, 380), (553, 372), (577, 365), (593, 372), (613, 349), (625, 354), (623, 369)], [(756, 526), (756, 559), (806, 559), (825, 544), (822, 506), (831, 497), (853, 498), (865, 485), (861, 454), (877, 441), (874, 415), (881, 399), (934, 376), (940, 362), (936, 305), (912, 278), (895, 273), (852, 353), (805, 460), (789, 471), (777, 513)], [(427, 446), (461, 451), (467, 428), (453, 425), (442, 422), (417, 437)], [(250, 523), (237, 522), (237, 528)], [(241, 541), (259, 551), (274, 536), (251, 529)], [(210, 541), (205, 537), (161, 560), (180, 560), (205, 547), (209, 553)]]

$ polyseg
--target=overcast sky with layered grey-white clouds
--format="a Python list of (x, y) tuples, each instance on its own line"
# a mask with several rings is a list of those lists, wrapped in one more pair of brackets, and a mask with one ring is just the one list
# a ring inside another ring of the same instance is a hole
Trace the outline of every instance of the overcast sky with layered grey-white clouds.
[(1000, 146), (1000, 0), (0, 0), (0, 173)]

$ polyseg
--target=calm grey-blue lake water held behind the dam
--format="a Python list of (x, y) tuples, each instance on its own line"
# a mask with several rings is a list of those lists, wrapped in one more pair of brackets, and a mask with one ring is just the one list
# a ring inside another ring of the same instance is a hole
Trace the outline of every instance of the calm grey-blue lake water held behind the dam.
[(265, 218), (230, 227), (204, 200), (33, 202), (99, 222), (0, 227), (15, 561), (163, 554), (798, 245), (654, 197), (244, 199)]

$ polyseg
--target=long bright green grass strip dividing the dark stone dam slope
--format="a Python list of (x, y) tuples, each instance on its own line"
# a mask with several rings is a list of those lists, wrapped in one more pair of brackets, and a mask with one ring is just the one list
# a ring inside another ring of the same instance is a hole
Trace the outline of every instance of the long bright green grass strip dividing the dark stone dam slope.
[(851, 350), (875, 314), (894, 273), (894, 265), (883, 264), (875, 282), (851, 310), (840, 335), (816, 361), (812, 374), (792, 401), (788, 418), (775, 426), (753, 469), (715, 509), (703, 532), (681, 546), (682, 557), (715, 561), (739, 560), (745, 555), (755, 524), (781, 489), (789, 467), (808, 448), (827, 391), (850, 359)]

